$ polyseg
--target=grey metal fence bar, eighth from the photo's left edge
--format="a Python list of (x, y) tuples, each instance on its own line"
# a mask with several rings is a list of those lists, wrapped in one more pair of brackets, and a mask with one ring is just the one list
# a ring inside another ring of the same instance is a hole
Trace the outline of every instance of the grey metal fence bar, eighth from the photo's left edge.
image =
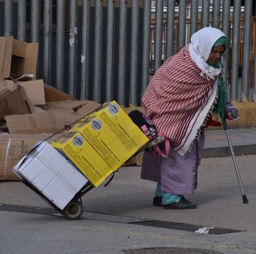
[(93, 100), (101, 102), (103, 2), (95, 0), (95, 49), (93, 70)]

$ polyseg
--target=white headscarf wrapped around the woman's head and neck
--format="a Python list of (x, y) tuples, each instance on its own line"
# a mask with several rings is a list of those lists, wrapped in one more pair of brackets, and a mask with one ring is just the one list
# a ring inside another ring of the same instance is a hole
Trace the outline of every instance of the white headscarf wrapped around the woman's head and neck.
[(189, 44), (190, 57), (197, 64), (198, 68), (202, 70), (201, 76), (205, 77), (207, 75), (207, 79), (214, 80), (214, 77), (221, 73), (221, 69), (208, 65), (207, 60), (213, 44), (223, 36), (226, 37), (221, 30), (213, 27), (202, 28), (191, 36), (191, 43)]

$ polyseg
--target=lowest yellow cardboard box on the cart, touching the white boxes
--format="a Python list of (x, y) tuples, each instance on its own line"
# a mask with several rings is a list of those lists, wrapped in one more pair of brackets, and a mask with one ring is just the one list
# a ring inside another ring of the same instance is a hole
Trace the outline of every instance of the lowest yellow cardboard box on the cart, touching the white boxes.
[(95, 187), (113, 173), (105, 160), (78, 132), (67, 133), (51, 142), (51, 145), (69, 158)]

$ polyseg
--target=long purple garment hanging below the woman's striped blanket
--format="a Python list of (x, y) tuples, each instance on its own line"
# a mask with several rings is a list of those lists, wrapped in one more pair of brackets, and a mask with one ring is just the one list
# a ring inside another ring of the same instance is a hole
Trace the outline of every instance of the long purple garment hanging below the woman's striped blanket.
[(141, 178), (160, 182), (161, 191), (177, 195), (194, 194), (197, 189), (197, 168), (205, 142), (204, 132), (195, 139), (185, 158), (171, 149), (168, 158), (144, 152)]

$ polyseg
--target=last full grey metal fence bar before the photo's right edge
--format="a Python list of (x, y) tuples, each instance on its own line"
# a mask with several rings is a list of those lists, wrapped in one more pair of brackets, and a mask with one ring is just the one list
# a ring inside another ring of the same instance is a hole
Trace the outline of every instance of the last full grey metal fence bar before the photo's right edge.
[(250, 85), (250, 35), (251, 35), (252, 0), (245, 1), (244, 36), (242, 44), (242, 101), (249, 99)]

